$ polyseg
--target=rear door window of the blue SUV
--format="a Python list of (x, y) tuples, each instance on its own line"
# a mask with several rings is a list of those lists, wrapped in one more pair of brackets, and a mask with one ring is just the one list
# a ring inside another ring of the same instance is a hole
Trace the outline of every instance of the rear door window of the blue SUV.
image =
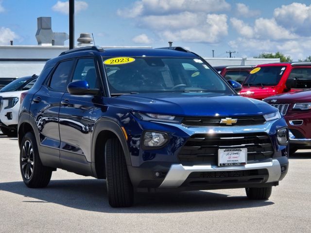
[(67, 90), (67, 80), (70, 75), (73, 60), (61, 62), (53, 73), (50, 87), (58, 91)]

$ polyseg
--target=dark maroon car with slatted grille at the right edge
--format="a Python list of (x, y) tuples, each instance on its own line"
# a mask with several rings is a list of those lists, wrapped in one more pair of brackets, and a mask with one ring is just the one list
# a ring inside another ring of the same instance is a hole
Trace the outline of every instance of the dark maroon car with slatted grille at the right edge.
[(285, 93), (264, 99), (276, 107), (289, 127), (290, 154), (311, 149), (311, 90)]

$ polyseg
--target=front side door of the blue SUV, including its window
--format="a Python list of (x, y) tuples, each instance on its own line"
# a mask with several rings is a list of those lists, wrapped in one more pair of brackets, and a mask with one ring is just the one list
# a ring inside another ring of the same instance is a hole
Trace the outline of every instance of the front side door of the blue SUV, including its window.
[[(72, 82), (86, 80), (90, 89), (99, 88), (99, 72), (93, 57), (79, 58)], [(64, 94), (59, 111), (60, 158), (66, 169), (88, 175), (91, 171), (92, 114), (100, 98)]]

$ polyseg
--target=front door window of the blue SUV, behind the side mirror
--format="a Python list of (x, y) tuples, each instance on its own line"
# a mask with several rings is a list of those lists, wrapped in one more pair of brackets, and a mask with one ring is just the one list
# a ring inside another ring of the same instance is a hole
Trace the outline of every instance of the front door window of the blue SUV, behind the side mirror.
[(86, 80), (90, 89), (98, 88), (94, 59), (79, 59), (73, 73), (72, 82)]

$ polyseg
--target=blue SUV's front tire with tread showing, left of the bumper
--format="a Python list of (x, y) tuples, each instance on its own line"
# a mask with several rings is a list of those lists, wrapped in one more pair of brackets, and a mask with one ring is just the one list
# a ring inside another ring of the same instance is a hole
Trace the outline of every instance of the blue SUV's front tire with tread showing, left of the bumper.
[(108, 139), (105, 145), (105, 170), (109, 204), (112, 207), (133, 205), (134, 190), (118, 138)]

